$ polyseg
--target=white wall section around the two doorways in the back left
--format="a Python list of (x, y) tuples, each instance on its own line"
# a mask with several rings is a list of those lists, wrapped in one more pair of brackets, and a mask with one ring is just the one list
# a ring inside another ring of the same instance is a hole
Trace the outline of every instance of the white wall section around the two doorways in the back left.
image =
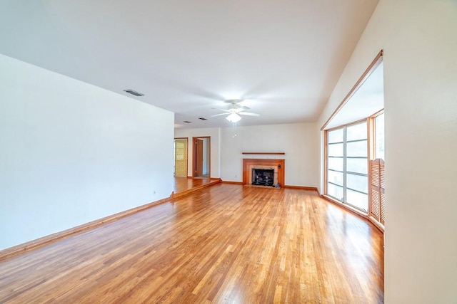
[(219, 142), (219, 128), (218, 127), (208, 127), (208, 128), (195, 128), (195, 129), (180, 129), (177, 128), (174, 130), (174, 137), (187, 137), (188, 142), (188, 169), (187, 175), (189, 177), (192, 176), (192, 157), (194, 157), (193, 150), (192, 150), (192, 137), (211, 137), (211, 177), (219, 178), (221, 177), (221, 167), (220, 167), (220, 142)]

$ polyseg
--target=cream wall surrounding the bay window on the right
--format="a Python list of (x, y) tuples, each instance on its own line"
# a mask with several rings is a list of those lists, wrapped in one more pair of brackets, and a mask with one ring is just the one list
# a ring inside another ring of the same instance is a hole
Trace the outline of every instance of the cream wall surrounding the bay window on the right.
[(383, 48), (386, 303), (457, 303), (456, 32), (455, 0), (381, 0), (318, 122)]

